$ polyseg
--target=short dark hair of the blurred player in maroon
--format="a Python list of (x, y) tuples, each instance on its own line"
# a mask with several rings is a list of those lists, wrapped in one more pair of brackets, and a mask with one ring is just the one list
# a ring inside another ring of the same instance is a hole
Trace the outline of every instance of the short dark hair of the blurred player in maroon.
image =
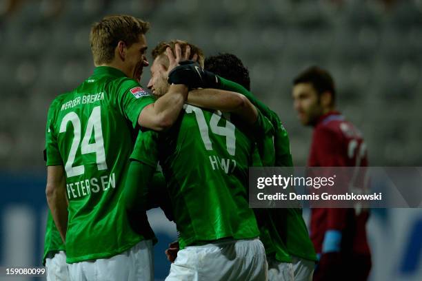
[(318, 95), (323, 92), (330, 92), (332, 94), (332, 103), (334, 104), (336, 87), (330, 72), (327, 70), (318, 66), (309, 67), (293, 80), (293, 85), (299, 83), (311, 83)]

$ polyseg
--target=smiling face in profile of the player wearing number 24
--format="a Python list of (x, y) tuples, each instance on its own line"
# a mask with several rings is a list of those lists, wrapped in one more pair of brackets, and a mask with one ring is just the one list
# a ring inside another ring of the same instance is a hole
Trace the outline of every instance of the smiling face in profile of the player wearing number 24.
[(146, 39), (144, 34), (139, 35), (137, 43), (133, 43), (129, 48), (126, 48), (125, 64), (128, 68), (129, 77), (141, 81), (143, 67), (148, 66), (146, 59)]

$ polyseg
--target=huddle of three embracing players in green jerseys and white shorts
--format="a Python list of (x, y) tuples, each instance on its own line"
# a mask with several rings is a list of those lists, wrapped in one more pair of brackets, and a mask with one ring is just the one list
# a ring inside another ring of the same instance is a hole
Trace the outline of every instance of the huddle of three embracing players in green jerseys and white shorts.
[(312, 280), (301, 209), (248, 206), (248, 167), (292, 166), (279, 117), (235, 56), (204, 70), (184, 41), (152, 50), (150, 95), (148, 29), (125, 15), (94, 24), (94, 74), (50, 105), (48, 279), (154, 280), (145, 211), (161, 207), (179, 232), (166, 280)]

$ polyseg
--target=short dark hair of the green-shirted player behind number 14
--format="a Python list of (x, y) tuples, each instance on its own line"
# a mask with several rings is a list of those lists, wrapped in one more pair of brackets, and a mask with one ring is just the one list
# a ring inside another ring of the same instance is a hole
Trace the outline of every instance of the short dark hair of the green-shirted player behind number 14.
[(204, 62), (204, 69), (236, 82), (250, 91), (249, 70), (234, 54), (219, 53), (216, 56), (208, 56)]

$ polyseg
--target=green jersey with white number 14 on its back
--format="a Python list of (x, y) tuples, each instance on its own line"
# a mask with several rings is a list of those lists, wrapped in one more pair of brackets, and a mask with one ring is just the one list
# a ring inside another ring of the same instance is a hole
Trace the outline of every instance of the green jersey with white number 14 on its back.
[(254, 142), (230, 115), (185, 105), (165, 133), (139, 134), (131, 158), (159, 162), (183, 248), (221, 238), (259, 236), (248, 205), (248, 167)]

